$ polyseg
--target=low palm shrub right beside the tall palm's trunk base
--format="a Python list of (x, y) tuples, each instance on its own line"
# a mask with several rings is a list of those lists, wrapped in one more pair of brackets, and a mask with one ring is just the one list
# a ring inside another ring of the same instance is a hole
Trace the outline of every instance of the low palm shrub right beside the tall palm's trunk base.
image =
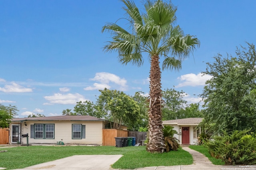
[(178, 150), (180, 144), (179, 140), (174, 137), (174, 134), (178, 134), (176, 130), (173, 129), (172, 126), (164, 125), (163, 134), (164, 134), (164, 144), (166, 145), (166, 152), (170, 150)]

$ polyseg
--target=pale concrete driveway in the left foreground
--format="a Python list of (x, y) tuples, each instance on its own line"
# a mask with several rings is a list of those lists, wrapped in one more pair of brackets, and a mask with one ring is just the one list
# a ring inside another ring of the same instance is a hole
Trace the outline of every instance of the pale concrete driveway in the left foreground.
[(15, 170), (111, 170), (122, 155), (74, 155)]

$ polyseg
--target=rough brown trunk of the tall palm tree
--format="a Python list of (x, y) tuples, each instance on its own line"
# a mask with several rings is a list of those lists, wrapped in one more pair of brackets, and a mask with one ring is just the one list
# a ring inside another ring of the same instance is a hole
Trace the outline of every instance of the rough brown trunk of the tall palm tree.
[(164, 152), (164, 135), (162, 132), (162, 90), (161, 70), (159, 56), (154, 55), (150, 61), (150, 101), (149, 101), (149, 128), (148, 128), (148, 152)]

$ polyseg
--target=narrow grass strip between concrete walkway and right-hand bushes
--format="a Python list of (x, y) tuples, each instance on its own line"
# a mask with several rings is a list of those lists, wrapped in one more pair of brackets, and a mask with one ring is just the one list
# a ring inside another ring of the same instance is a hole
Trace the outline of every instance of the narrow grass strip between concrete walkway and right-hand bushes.
[(190, 145), (189, 148), (204, 154), (214, 165), (225, 165), (225, 162), (223, 162), (221, 159), (212, 157), (208, 152), (208, 149), (202, 145)]

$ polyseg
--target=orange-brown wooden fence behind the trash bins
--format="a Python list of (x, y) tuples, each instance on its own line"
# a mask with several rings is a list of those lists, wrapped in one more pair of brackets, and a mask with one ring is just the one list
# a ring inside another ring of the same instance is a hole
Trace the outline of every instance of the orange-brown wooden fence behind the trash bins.
[(116, 146), (115, 137), (128, 137), (128, 131), (117, 129), (102, 129), (103, 146)]

